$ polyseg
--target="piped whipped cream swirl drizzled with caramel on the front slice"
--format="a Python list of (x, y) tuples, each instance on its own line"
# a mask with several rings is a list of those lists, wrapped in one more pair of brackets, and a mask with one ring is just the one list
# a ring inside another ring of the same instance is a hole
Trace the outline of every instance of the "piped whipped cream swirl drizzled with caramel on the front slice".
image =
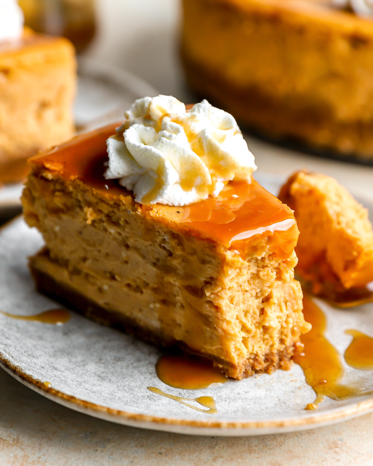
[(144, 97), (125, 117), (107, 140), (105, 178), (119, 178), (136, 202), (185, 206), (251, 181), (254, 156), (235, 119), (207, 100), (187, 111), (172, 96)]

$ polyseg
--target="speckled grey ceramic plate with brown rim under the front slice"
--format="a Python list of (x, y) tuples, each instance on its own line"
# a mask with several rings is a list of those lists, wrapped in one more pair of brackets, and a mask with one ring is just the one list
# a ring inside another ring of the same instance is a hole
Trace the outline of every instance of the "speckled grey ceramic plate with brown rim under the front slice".
[[(257, 178), (270, 191), (278, 190), (276, 178), (260, 173)], [(35, 315), (56, 307), (35, 291), (28, 272), (27, 256), (41, 245), (39, 233), (21, 218), (1, 230), (2, 311)], [(351, 342), (345, 329), (373, 336), (372, 304), (340, 310), (318, 303), (327, 318), (326, 337), (342, 355)], [(214, 388), (174, 389), (156, 375), (159, 354), (158, 349), (134, 337), (74, 312), (62, 326), (0, 315), (0, 359), (5, 370), (57, 403), (113, 422), (187, 434), (242, 436), (308, 429), (373, 410), (373, 396), (369, 395), (341, 402), (326, 398), (318, 410), (305, 411), (315, 395), (296, 364), (290, 371), (277, 370), (241, 382), (231, 380)], [(373, 371), (345, 365), (342, 382), (370, 391)], [(157, 391), (189, 400), (181, 404)], [(207, 408), (190, 400), (203, 396), (214, 398), (216, 413), (204, 412)]]

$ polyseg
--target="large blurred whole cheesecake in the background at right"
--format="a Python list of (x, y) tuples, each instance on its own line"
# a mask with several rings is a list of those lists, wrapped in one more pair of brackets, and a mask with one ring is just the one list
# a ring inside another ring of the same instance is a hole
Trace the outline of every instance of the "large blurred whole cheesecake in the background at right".
[(198, 95), (263, 135), (373, 160), (373, 17), (322, 0), (183, 3)]

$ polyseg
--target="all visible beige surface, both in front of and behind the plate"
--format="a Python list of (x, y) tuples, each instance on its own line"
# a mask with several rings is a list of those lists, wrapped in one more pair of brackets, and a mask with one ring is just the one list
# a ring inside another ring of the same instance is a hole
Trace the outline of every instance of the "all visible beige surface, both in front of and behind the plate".
[[(97, 0), (91, 58), (123, 67), (190, 102), (178, 61), (177, 0)], [(248, 137), (260, 171), (328, 173), (373, 199), (373, 167), (279, 149)], [(247, 438), (193, 437), (111, 424), (71, 411), (0, 370), (0, 466), (373, 465), (373, 414), (306, 432)]]

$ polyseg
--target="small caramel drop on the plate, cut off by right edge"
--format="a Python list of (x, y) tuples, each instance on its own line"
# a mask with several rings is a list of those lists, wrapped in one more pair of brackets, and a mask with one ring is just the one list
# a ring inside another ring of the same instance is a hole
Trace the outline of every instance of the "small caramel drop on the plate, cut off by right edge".
[(373, 370), (373, 338), (359, 330), (346, 330), (345, 333), (353, 336), (345, 350), (345, 362), (354, 369)]

